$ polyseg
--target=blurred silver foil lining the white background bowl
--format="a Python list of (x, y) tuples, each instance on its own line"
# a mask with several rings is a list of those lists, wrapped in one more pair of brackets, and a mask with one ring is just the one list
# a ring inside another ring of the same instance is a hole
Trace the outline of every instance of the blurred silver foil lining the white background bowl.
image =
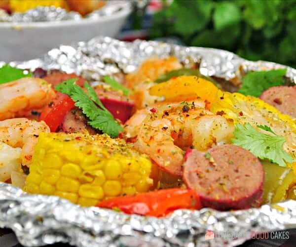
[[(128, 3), (126, 0), (108, 1), (104, 7), (88, 14), (86, 19), (98, 19), (102, 16), (111, 16), (121, 11)], [(37, 7), (24, 13), (13, 13), (9, 15), (5, 12), (0, 13), (0, 22), (29, 23), (29, 22), (51, 22), (51, 21), (69, 21), (84, 19), (79, 13), (63, 8)]]

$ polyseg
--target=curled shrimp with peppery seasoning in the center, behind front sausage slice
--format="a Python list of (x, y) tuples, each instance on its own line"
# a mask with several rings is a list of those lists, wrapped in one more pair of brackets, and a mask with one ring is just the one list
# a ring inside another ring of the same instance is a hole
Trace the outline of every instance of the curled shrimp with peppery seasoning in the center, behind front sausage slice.
[(136, 122), (129, 122), (137, 127), (134, 147), (174, 175), (182, 175), (184, 150), (194, 147), (206, 151), (212, 146), (230, 143), (233, 137), (232, 122), (203, 108), (179, 104), (157, 110), (149, 114), (140, 127)]

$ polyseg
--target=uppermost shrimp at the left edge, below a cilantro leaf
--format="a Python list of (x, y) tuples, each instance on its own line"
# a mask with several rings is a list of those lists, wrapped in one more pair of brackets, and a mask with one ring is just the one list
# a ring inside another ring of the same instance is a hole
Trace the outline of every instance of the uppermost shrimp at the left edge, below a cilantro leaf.
[(51, 85), (38, 78), (22, 78), (0, 85), (0, 120), (22, 117), (55, 97)]

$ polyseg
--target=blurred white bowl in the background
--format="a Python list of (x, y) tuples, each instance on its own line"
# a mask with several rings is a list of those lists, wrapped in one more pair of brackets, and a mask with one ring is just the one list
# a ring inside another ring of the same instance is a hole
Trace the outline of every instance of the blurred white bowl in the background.
[(24, 61), (61, 44), (115, 37), (131, 12), (129, 4), (110, 16), (57, 22), (0, 23), (0, 61)]

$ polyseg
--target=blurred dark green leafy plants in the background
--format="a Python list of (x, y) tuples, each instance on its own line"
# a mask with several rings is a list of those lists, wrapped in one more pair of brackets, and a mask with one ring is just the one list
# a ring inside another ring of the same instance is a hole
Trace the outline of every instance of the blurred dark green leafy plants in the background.
[(148, 33), (296, 67), (296, 0), (162, 0)]

